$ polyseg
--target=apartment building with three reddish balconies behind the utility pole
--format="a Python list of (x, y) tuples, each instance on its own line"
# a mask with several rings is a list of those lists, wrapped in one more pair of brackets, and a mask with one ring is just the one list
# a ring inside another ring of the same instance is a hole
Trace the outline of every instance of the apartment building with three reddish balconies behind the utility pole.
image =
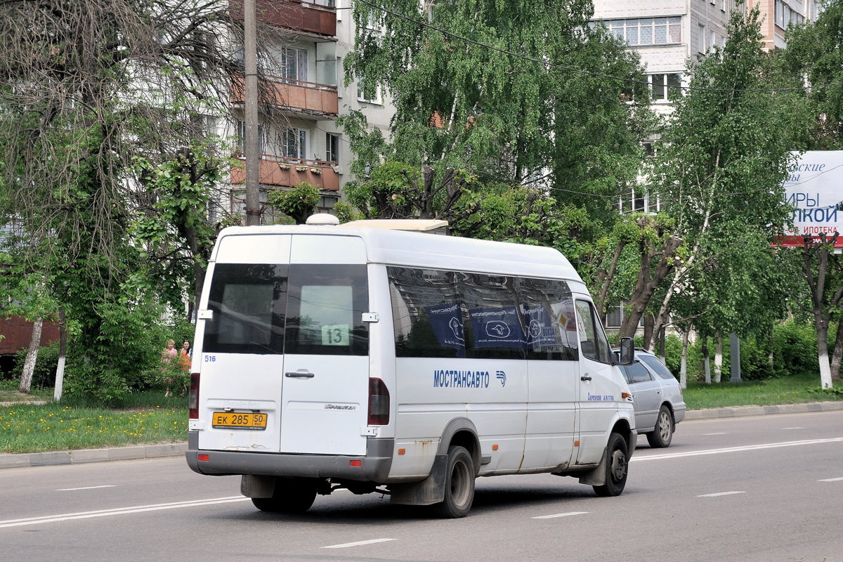
[[(232, 13), (238, 9), (232, 3)], [(264, 41), (277, 69), (271, 76), (271, 104), (285, 117), (284, 125), (270, 125), (259, 115), (260, 201), (271, 190), (292, 188), (303, 181), (319, 189), (319, 209), (330, 211), (341, 199), (341, 187), (351, 178), (351, 154), (336, 118), (360, 110), (384, 133), (393, 110), (381, 94), (364, 99), (357, 84), (344, 85), (342, 64), (352, 50), (354, 24), (351, 0), (256, 0), (255, 16), (263, 24)], [(270, 29), (266, 34), (266, 28)], [(231, 97), (234, 125), (230, 138), (244, 138), (244, 89), (235, 79)], [(277, 123), (277, 120), (274, 121)], [(279, 130), (280, 129), (280, 130)], [(245, 170), (231, 176), (229, 211), (244, 211)], [(274, 217), (266, 214), (264, 222)]]

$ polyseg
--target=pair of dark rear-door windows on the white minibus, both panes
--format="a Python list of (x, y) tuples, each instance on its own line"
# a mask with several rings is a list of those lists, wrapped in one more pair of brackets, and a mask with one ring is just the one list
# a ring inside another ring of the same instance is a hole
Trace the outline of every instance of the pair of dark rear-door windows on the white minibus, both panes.
[(365, 265), (217, 264), (203, 351), (367, 355)]

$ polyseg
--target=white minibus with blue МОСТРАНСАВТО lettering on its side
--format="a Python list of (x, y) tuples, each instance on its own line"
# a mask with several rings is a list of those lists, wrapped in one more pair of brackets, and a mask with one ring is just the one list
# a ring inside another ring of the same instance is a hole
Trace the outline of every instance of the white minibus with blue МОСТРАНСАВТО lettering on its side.
[[(632, 397), (562, 254), (314, 217), (333, 224), (217, 238), (191, 369), (194, 471), (242, 475), (257, 508), (287, 513), (345, 488), (464, 517), (476, 477), (498, 474), (621, 493)], [(621, 361), (632, 351), (624, 339)]]

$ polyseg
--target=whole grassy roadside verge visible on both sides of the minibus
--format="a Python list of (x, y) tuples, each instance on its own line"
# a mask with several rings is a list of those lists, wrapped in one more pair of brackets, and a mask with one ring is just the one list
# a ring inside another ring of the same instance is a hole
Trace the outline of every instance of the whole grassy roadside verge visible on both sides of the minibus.
[[(30, 404), (29, 401), (46, 401)], [(843, 383), (833, 391), (819, 390), (815, 374), (746, 383), (706, 385), (692, 381), (685, 390), (688, 409), (730, 406), (798, 404), (843, 400)], [(121, 447), (142, 443), (184, 442), (187, 439), (186, 398), (164, 397), (162, 391), (134, 393), (121, 409), (89, 404), (56, 404), (52, 390), (17, 392), (17, 383), (0, 382), (0, 452), (67, 451)]]

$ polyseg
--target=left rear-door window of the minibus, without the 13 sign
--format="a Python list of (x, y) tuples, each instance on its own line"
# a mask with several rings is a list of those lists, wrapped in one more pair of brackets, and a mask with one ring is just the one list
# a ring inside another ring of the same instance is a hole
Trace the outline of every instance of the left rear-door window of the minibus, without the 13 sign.
[(287, 265), (217, 264), (203, 351), (283, 353)]

